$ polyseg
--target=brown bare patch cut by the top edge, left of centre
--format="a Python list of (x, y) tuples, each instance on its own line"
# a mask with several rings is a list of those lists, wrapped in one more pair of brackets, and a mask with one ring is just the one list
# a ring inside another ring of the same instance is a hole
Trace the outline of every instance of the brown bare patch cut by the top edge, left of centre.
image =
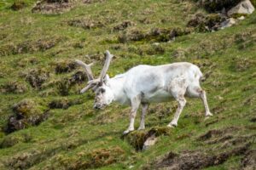
[(72, 0), (41, 0), (32, 8), (32, 13), (61, 14), (73, 8)]

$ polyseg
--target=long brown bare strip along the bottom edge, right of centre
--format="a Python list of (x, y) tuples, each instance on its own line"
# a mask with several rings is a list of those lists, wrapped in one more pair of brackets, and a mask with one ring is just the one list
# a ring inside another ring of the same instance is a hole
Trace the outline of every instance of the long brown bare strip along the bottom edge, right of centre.
[[(216, 166), (227, 161), (231, 156), (240, 156), (248, 150), (248, 144), (236, 147), (233, 150), (225, 151), (219, 154), (213, 154), (211, 151), (201, 150), (183, 151), (180, 154), (170, 152), (165, 158), (154, 162), (154, 169), (172, 169), (172, 170), (191, 170), (202, 169), (204, 167)], [(147, 168), (146, 168), (147, 169)]]

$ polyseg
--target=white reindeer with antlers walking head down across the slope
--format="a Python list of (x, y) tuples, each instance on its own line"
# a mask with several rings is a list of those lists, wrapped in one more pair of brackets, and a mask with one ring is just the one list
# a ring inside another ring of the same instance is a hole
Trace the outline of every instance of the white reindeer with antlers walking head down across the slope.
[(90, 65), (76, 59), (76, 62), (84, 67), (88, 77), (88, 83), (80, 93), (83, 94), (90, 88), (95, 92), (94, 109), (104, 109), (113, 101), (121, 105), (131, 105), (130, 125), (124, 134), (134, 130), (134, 120), (137, 110), (142, 105), (142, 116), (138, 130), (145, 128), (145, 116), (150, 103), (160, 103), (177, 100), (177, 111), (167, 126), (177, 127), (178, 118), (186, 105), (185, 95), (201, 98), (205, 107), (206, 116), (212, 116), (207, 104), (206, 92), (200, 86), (202, 73), (200, 69), (191, 63), (177, 62), (167, 65), (137, 65), (109, 78), (107, 71), (113, 54), (105, 52), (106, 61), (100, 77), (94, 78)]

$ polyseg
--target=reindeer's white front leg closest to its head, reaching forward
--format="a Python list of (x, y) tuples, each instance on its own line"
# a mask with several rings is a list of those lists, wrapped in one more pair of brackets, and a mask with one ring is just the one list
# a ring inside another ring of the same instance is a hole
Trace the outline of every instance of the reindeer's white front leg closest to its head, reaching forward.
[(127, 128), (127, 130), (125, 130), (124, 134), (134, 131), (134, 121), (135, 121), (137, 109), (139, 108), (140, 104), (141, 104), (141, 100), (139, 96), (135, 97), (134, 99), (131, 99), (130, 125)]

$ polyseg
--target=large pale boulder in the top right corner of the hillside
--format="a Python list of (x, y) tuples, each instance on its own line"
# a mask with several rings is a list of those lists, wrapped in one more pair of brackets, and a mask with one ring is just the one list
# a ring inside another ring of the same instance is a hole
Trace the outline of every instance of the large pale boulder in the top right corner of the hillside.
[(250, 0), (242, 1), (238, 3), (236, 7), (231, 8), (228, 11), (228, 16), (232, 16), (233, 14), (252, 14), (255, 8)]

